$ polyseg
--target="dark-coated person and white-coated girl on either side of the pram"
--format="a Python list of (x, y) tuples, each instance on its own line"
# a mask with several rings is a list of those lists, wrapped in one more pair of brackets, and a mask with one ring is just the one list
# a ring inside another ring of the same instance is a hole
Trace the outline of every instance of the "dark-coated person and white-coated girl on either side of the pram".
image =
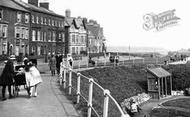
[[(15, 84), (15, 62), (16, 58), (11, 55), (5, 62), (5, 67), (0, 76), (0, 86), (2, 86), (2, 100), (6, 100), (6, 87), (8, 86), (9, 98), (13, 98), (11, 86)], [(24, 68), (20, 68), (18, 74), (24, 74), (28, 95), (37, 96), (37, 86), (42, 82), (40, 72), (35, 64), (29, 61), (28, 58), (23, 60)]]

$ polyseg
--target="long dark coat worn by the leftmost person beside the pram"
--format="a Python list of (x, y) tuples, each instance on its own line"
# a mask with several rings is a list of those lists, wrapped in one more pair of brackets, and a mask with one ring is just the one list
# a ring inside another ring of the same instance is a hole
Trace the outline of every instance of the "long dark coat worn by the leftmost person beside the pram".
[(8, 60), (0, 77), (0, 85), (12, 85), (14, 77), (13, 62)]

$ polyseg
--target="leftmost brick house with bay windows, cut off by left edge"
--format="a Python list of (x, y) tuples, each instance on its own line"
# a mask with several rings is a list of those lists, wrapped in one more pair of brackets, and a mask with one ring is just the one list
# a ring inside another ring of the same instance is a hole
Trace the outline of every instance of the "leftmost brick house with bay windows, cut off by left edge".
[(12, 0), (0, 1), (0, 59), (29, 53), (30, 12)]

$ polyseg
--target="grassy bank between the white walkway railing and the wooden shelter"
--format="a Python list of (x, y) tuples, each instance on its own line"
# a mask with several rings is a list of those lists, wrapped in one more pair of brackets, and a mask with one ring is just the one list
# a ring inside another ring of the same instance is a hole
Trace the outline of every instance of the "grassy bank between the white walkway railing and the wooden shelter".
[[(108, 67), (108, 68), (96, 68), (93, 70), (81, 72), (83, 75), (93, 78), (98, 84), (100, 84), (104, 89), (109, 89), (111, 95), (116, 99), (120, 104), (124, 99), (131, 96), (137, 95), (142, 92), (146, 92), (147, 81), (146, 81), (146, 72), (143, 67)], [(68, 80), (68, 79), (67, 79)], [(83, 96), (88, 99), (88, 80), (81, 78), (81, 93)], [(73, 87), (76, 88), (76, 75), (73, 74), (72, 79)], [(74, 90), (73, 90), (74, 91)], [(69, 99), (76, 102), (75, 95), (69, 96)], [(87, 107), (84, 100), (81, 98), (82, 102), (76, 104), (76, 108), (83, 112), (83, 115), (86, 115)], [(102, 116), (103, 113), (103, 100), (104, 95), (103, 91), (94, 85), (93, 88), (93, 107), (97, 113)], [(109, 105), (109, 117), (118, 117), (120, 116), (119, 111), (114, 105), (113, 101), (110, 100)], [(96, 117), (93, 116), (92, 117)]]

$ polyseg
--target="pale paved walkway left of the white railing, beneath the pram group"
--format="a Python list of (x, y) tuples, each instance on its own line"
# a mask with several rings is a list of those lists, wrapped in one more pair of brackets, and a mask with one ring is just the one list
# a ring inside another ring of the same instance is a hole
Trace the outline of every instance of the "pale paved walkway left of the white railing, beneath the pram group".
[(42, 74), (42, 79), (38, 97), (29, 98), (22, 86), (18, 97), (0, 101), (0, 117), (79, 117), (73, 104), (60, 91), (56, 77)]

